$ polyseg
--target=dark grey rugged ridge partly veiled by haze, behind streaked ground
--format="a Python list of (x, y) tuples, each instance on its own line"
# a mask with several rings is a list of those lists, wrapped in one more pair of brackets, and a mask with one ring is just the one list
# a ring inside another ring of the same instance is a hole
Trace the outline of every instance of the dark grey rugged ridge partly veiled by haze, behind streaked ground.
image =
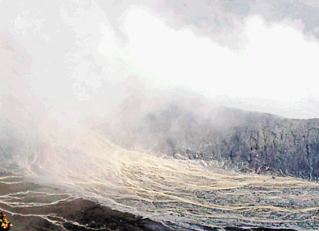
[(123, 128), (114, 141), (176, 158), (217, 160), (241, 171), (319, 177), (319, 119), (219, 108), (202, 117), (177, 105)]

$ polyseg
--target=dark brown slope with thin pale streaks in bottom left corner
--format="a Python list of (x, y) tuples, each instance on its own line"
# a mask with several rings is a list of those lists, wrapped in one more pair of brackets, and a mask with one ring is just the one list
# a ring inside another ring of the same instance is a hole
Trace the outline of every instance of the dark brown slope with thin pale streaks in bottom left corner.
[[(17, 231), (186, 231), (167, 228), (150, 219), (104, 207), (93, 201), (76, 198), (61, 190), (27, 183), (22, 178), (1, 171), (0, 210)], [(236, 227), (212, 228), (198, 224), (206, 231), (272, 231), (275, 229)], [(290, 231), (289, 229), (278, 229)], [(190, 230), (188, 230), (190, 231)]]

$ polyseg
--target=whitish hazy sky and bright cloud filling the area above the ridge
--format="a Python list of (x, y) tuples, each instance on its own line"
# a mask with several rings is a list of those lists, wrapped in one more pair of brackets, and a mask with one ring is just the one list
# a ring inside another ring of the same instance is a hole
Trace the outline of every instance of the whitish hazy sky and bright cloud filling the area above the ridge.
[(36, 111), (53, 120), (104, 114), (136, 87), (319, 117), (319, 41), (302, 19), (238, 16), (215, 1), (210, 7), (231, 25), (209, 24), (214, 15), (202, 12), (207, 31), (218, 27), (202, 33), (205, 23), (188, 23), (162, 1), (31, 2), (0, 1), (0, 110), (8, 116), (17, 108), (23, 117)]

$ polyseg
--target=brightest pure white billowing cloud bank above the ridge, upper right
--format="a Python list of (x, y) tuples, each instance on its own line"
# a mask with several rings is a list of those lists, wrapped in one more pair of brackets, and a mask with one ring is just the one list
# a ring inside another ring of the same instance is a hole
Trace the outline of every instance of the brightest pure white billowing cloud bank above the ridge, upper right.
[[(125, 25), (131, 63), (157, 88), (178, 86), (231, 106), (242, 101), (237, 107), (248, 110), (269, 103), (261, 111), (288, 117), (299, 116), (300, 101), (319, 99), (319, 43), (303, 35), (299, 21), (250, 16), (235, 51), (190, 29), (170, 29), (142, 9), (132, 9)], [(312, 113), (301, 117), (319, 116)]]

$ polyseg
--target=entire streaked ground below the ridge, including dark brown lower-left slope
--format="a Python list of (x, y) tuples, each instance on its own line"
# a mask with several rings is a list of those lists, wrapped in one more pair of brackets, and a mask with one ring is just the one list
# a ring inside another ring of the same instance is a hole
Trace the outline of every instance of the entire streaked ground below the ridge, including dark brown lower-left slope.
[[(110, 230), (125, 230), (124, 224), (129, 224), (146, 231), (148, 226), (182, 231), (319, 229), (316, 182), (243, 174), (130, 151), (96, 132), (28, 151), (16, 158), (23, 165), (15, 175), (6, 173), (1, 178), (0, 210), (12, 215), (20, 228), (106, 225)], [(138, 217), (111, 213), (106, 207)], [(88, 219), (88, 214), (94, 219)], [(113, 215), (115, 220), (110, 219)]]

